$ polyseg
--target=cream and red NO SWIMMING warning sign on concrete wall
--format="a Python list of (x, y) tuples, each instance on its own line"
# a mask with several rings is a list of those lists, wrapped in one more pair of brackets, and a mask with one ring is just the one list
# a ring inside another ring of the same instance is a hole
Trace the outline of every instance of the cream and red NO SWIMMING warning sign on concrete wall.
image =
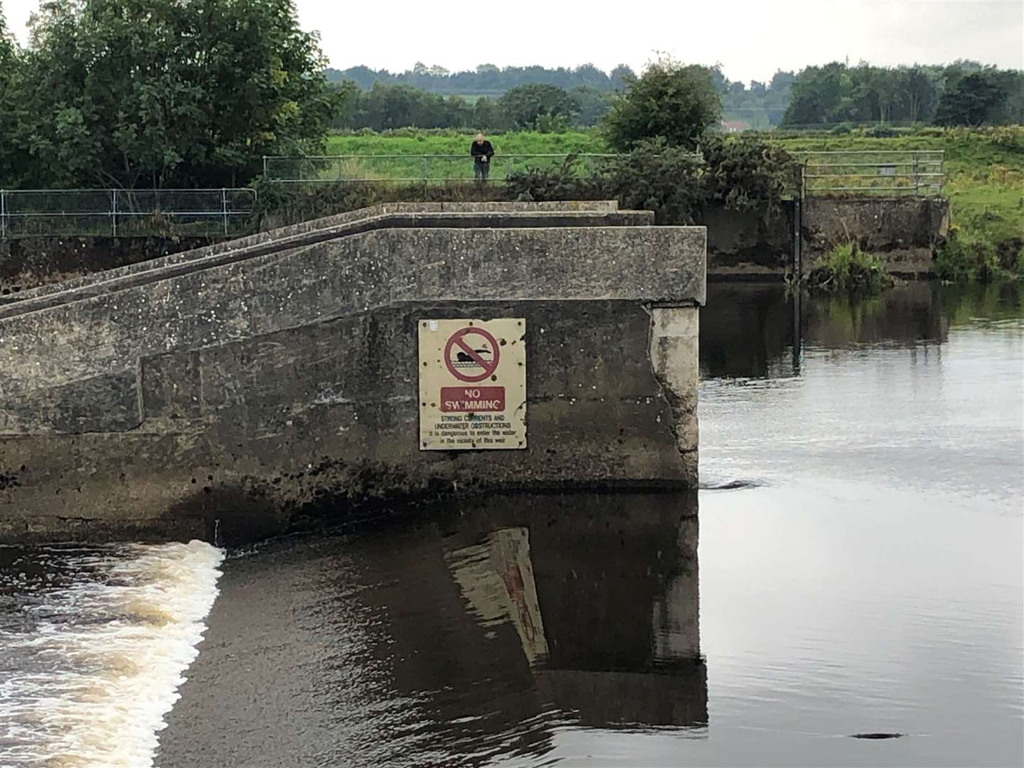
[(420, 449), (526, 447), (526, 322), (424, 319)]

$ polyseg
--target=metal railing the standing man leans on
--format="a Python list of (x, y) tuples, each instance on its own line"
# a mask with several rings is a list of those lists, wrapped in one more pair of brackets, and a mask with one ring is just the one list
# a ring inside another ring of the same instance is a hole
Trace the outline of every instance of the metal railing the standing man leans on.
[[(504, 180), (512, 171), (527, 167), (552, 168), (569, 157), (580, 176), (596, 175), (616, 155), (496, 155), (490, 159), (489, 178)], [(443, 183), (472, 181), (473, 160), (467, 155), (321, 155), (267, 156), (263, 178), (283, 184), (332, 183), (338, 181), (402, 181)]]

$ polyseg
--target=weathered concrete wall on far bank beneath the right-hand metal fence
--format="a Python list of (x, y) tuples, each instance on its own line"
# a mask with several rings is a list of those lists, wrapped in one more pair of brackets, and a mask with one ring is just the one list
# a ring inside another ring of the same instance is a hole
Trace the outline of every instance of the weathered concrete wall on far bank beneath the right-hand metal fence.
[(828, 198), (804, 203), (804, 267), (840, 243), (856, 241), (886, 259), (889, 271), (908, 276), (932, 271), (933, 249), (949, 229), (943, 198)]

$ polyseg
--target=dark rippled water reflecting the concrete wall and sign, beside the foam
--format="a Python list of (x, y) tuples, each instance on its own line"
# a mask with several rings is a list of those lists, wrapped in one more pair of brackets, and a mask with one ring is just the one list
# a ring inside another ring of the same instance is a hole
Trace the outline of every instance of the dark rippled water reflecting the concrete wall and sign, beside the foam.
[[(434, 517), (229, 561), (160, 764), (220, 764), (223, 729), (244, 734), (232, 764), (481, 765), (532, 763), (567, 728), (707, 725), (695, 494), (503, 497)], [(301, 634), (275, 637), (292, 614)], [(334, 715), (295, 730), (244, 706), (240, 658), (285, 664), (268, 680), (300, 676)]]

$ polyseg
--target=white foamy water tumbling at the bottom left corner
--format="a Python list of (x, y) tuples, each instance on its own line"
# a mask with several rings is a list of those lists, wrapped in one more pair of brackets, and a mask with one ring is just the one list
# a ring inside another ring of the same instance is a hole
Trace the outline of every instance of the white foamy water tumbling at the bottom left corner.
[(0, 765), (153, 765), (223, 552), (194, 541), (3, 554)]

